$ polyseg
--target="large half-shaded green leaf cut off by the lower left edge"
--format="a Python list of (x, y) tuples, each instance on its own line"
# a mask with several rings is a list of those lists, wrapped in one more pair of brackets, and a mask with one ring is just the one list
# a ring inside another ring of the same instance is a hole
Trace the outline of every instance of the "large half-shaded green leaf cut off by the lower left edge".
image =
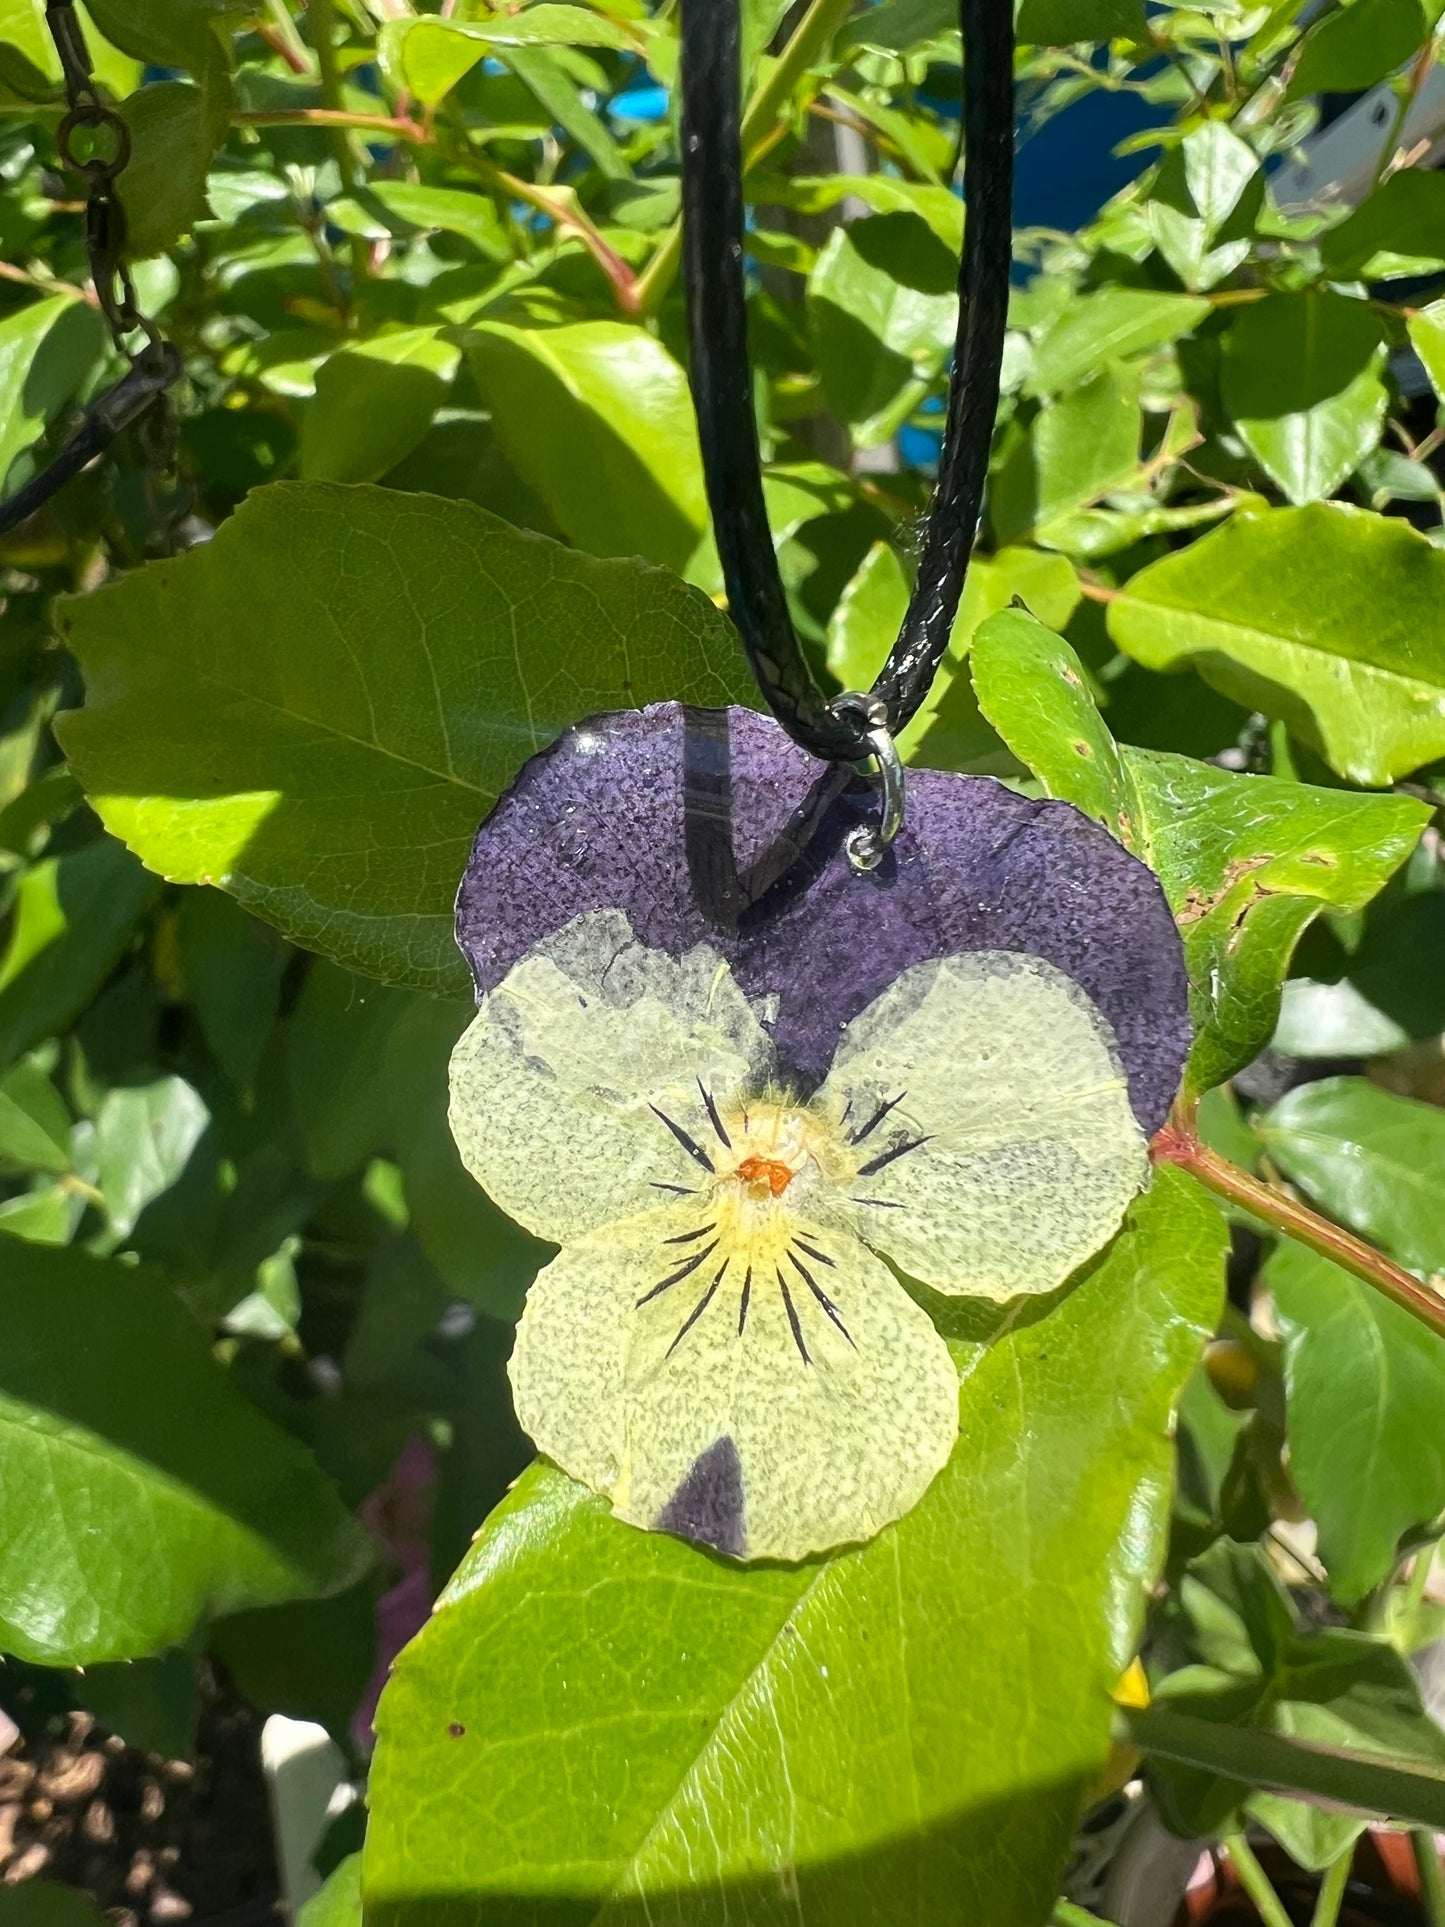
[(366, 1569), (368, 1540), (308, 1453), (229, 1386), (156, 1280), (15, 1243), (0, 1322), (12, 1653), (133, 1659), (208, 1615), (333, 1592)]

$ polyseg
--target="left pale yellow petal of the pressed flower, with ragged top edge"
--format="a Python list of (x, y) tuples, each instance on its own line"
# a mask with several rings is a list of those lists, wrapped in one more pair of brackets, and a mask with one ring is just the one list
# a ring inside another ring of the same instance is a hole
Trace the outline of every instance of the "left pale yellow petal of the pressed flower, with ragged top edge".
[(451, 1060), (451, 1129), (497, 1204), (559, 1243), (711, 1181), (709, 1112), (765, 1085), (773, 1046), (726, 964), (588, 911), (482, 1000)]

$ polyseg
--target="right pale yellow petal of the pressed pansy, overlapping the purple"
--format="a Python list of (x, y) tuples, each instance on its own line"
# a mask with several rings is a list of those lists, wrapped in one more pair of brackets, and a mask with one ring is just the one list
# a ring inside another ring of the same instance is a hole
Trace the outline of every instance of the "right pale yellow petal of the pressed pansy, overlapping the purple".
[(1052, 1291), (1148, 1177), (1114, 1033), (1040, 958), (915, 964), (848, 1025), (819, 1108), (879, 1251), (938, 1291)]

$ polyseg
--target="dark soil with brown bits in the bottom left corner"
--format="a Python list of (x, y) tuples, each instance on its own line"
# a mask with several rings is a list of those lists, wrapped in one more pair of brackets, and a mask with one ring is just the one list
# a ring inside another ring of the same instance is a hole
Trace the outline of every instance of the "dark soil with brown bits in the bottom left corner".
[(116, 1927), (281, 1921), (260, 1717), (202, 1678), (195, 1759), (66, 1713), (0, 1757), (0, 1883), (81, 1887)]

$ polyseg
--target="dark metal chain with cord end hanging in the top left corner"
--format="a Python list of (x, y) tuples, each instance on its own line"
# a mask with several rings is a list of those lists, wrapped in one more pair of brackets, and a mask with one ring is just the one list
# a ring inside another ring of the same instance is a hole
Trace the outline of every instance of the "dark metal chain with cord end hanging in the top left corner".
[[(131, 129), (100, 98), (73, 0), (46, 0), (44, 17), (66, 79), (67, 112), (56, 133), (56, 146), (62, 162), (85, 179), (85, 252), (96, 304), (129, 368), (89, 405), (60, 455), (0, 503), (0, 534), (35, 515), (56, 489), (102, 455), (121, 430), (137, 424), (146, 466), (158, 476), (175, 468), (179, 443), (168, 389), (181, 378), (181, 355), (141, 312), (125, 262), (125, 204), (116, 191), (116, 175), (131, 158)], [(91, 141), (85, 143), (87, 152), (77, 152), (77, 135), (83, 131), (91, 133)], [(137, 333), (144, 339), (131, 347)]]

